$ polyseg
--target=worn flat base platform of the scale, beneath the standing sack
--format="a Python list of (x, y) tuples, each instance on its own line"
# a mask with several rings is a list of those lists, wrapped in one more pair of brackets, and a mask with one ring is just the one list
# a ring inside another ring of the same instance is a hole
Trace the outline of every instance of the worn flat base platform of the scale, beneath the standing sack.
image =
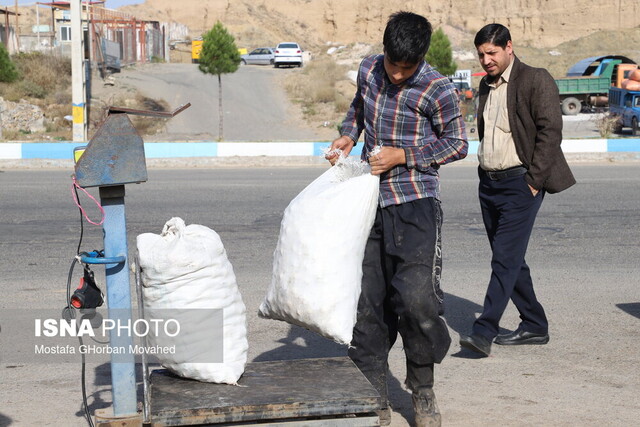
[(151, 374), (150, 424), (377, 426), (380, 395), (347, 357), (248, 363), (238, 386)]

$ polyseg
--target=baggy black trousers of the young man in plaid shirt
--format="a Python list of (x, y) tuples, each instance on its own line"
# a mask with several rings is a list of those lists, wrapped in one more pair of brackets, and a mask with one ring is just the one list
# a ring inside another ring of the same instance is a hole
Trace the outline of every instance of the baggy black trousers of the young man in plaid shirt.
[(442, 210), (434, 198), (378, 208), (363, 261), (362, 292), (349, 357), (387, 399), (388, 355), (398, 332), (407, 387), (433, 386), (433, 364), (451, 338), (440, 290)]

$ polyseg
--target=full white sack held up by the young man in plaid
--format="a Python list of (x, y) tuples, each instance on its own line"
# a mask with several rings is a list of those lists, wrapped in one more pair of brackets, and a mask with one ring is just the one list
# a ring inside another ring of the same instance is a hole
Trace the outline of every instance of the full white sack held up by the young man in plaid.
[(342, 158), (291, 201), (261, 317), (351, 342), (379, 183), (367, 163)]

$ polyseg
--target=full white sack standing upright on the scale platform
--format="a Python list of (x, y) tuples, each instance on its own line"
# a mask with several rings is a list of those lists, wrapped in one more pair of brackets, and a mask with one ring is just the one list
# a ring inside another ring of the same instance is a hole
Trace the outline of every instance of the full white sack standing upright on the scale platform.
[[(194, 352), (186, 360), (219, 360), (216, 355), (221, 342), (224, 344), (221, 363), (184, 363), (182, 351), (178, 359), (158, 354), (162, 365), (183, 377), (236, 384), (247, 361), (246, 308), (218, 234), (172, 218), (162, 234), (139, 235), (137, 246), (145, 316), (162, 309), (187, 309), (191, 322), (181, 324), (180, 334), (173, 338), (179, 348)], [(194, 321), (201, 312), (211, 314), (197, 309), (222, 309), (222, 331), (207, 330), (206, 322)], [(148, 338), (150, 346), (159, 345), (156, 340), (160, 338)]]

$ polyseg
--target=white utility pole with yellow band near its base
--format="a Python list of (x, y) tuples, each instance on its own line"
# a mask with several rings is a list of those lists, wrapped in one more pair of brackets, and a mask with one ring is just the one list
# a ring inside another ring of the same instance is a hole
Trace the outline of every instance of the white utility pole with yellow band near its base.
[(73, 141), (87, 140), (86, 75), (82, 0), (71, 0), (71, 102), (73, 105)]

